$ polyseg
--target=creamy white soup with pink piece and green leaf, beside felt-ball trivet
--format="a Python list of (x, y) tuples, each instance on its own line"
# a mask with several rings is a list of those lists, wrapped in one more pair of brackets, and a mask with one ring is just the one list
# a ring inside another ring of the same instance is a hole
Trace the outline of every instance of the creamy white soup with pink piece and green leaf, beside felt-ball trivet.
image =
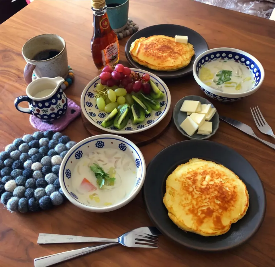
[(104, 207), (129, 196), (136, 175), (135, 163), (125, 153), (102, 148), (79, 160), (72, 173), (72, 187), (80, 202)]

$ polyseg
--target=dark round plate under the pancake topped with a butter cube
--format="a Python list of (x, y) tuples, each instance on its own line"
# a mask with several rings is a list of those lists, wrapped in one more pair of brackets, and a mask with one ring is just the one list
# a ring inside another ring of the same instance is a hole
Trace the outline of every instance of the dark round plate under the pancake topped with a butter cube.
[[(188, 36), (188, 43), (192, 44), (194, 46), (195, 55), (192, 57), (190, 63), (188, 66), (186, 66), (183, 69), (179, 69), (177, 71), (154, 71), (152, 69), (146, 68), (138, 63), (136, 63), (129, 51), (131, 47), (131, 43), (135, 41), (136, 39), (139, 39), (141, 37), (149, 37), (152, 35), (166, 35), (170, 37), (175, 37), (175, 35), (186, 35)], [(143, 69), (144, 71), (149, 71), (151, 73), (154, 73), (158, 77), (162, 79), (168, 79), (168, 78), (178, 78), (182, 77), (184, 75), (187, 75), (189, 73), (192, 73), (193, 70), (193, 64), (197, 56), (199, 56), (201, 53), (208, 50), (208, 45), (204, 38), (195, 32), (194, 30), (180, 26), (180, 25), (174, 25), (174, 24), (159, 24), (150, 26), (147, 28), (144, 28), (142, 30), (139, 30), (135, 34), (133, 34), (129, 40), (126, 43), (125, 46), (125, 56), (129, 63), (133, 66), (135, 66), (137, 69)]]

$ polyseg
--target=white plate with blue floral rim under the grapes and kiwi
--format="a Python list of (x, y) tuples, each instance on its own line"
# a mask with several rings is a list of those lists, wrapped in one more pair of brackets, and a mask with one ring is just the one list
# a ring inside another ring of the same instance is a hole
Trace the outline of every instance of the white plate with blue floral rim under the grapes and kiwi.
[(117, 134), (130, 134), (130, 133), (136, 133), (136, 132), (142, 132), (147, 129), (152, 128), (156, 124), (158, 124), (167, 114), (170, 105), (171, 105), (171, 95), (170, 91), (167, 87), (167, 85), (162, 81), (160, 78), (158, 78), (156, 75), (145, 72), (140, 69), (132, 69), (132, 71), (139, 72), (141, 75), (144, 73), (148, 73), (150, 75), (150, 79), (158, 86), (158, 88), (164, 93), (164, 97), (161, 99), (158, 99), (160, 102), (160, 110), (154, 111), (150, 114), (145, 115), (144, 122), (140, 124), (133, 124), (131, 120), (128, 121), (127, 125), (119, 130), (115, 126), (111, 126), (108, 128), (104, 128), (101, 126), (101, 122), (108, 116), (108, 114), (105, 111), (100, 111), (96, 105), (95, 100), (95, 87), (97, 83), (100, 83), (100, 78), (97, 76), (95, 79), (90, 81), (88, 85), (85, 87), (84, 91), (81, 95), (81, 110), (87, 120), (91, 122), (93, 125), (97, 126), (101, 130), (104, 130), (106, 132), (112, 132)]

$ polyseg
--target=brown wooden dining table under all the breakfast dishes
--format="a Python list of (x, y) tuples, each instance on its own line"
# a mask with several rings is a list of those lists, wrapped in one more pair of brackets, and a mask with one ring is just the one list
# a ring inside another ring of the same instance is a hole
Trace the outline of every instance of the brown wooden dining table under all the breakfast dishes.
[[(260, 133), (250, 112), (250, 107), (258, 105), (266, 121), (275, 130), (274, 21), (195, 1), (149, 0), (131, 0), (129, 18), (140, 29), (155, 24), (183, 25), (201, 34), (209, 48), (233, 47), (255, 56), (264, 67), (264, 82), (256, 93), (239, 102), (211, 100), (201, 91), (192, 74), (164, 81), (171, 92), (173, 106), (188, 95), (208, 98), (219, 115), (251, 126), (260, 138), (274, 143), (272, 137)], [(15, 138), (36, 131), (30, 125), (29, 115), (18, 112), (14, 107), (14, 99), (25, 95), (27, 86), (23, 78), (23, 44), (33, 36), (44, 33), (58, 34), (66, 40), (68, 62), (75, 75), (75, 81), (66, 89), (66, 95), (80, 105), (83, 89), (99, 75), (90, 48), (92, 23), (90, 1), (34, 1), (0, 25), (0, 151)], [(130, 67), (124, 52), (127, 39), (119, 41), (119, 62)], [(89, 137), (81, 117), (70, 123), (63, 133), (76, 142)], [(162, 136), (140, 149), (148, 164), (162, 149), (184, 140), (187, 138), (171, 122)], [(168, 237), (160, 236), (158, 249), (134, 249), (119, 245), (56, 266), (275, 266), (275, 151), (225, 122), (220, 122), (211, 141), (227, 145), (245, 157), (264, 184), (267, 199), (265, 219), (249, 241), (229, 251), (207, 253), (190, 250)], [(60, 206), (37, 213), (10, 213), (3, 204), (0, 204), (0, 208), (1, 267), (29, 267), (33, 266), (34, 258), (87, 246), (38, 245), (39, 233), (115, 238), (131, 229), (152, 225), (141, 192), (126, 206), (108, 213), (90, 213), (68, 200)]]

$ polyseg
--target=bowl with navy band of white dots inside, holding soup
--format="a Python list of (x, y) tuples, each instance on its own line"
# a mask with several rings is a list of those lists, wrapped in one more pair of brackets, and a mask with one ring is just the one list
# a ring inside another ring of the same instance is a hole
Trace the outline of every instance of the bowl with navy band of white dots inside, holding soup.
[[(243, 93), (225, 93), (203, 83), (199, 79), (200, 68), (207, 62), (217, 59), (234, 60), (246, 66), (254, 77), (254, 87), (250, 91)], [(220, 47), (207, 50), (197, 57), (193, 65), (193, 75), (199, 87), (207, 96), (222, 102), (234, 102), (252, 95), (261, 87), (264, 81), (264, 68), (258, 59), (247, 52), (235, 48)]]

